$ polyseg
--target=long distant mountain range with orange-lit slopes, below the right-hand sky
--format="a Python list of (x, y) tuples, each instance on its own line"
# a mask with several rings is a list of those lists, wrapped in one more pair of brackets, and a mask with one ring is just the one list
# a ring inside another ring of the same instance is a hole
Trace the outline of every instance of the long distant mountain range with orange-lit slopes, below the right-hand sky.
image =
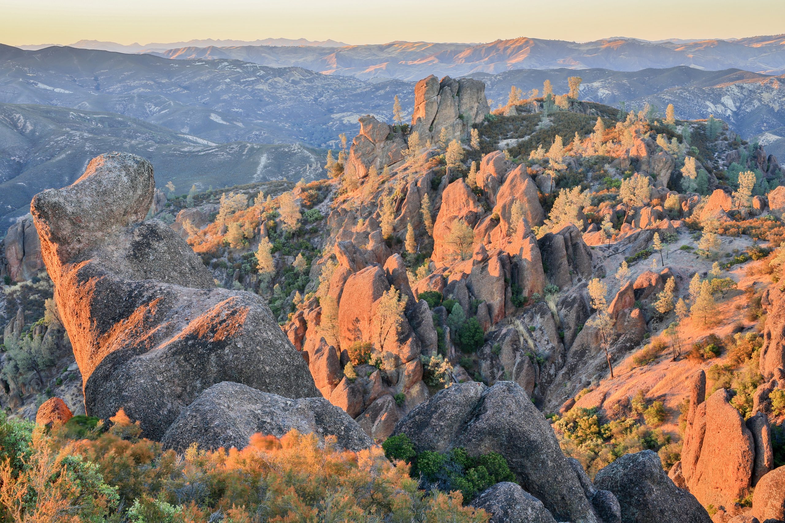
[(305, 67), (356, 78), (415, 81), (428, 74), (452, 77), (498, 74), (513, 69), (589, 69), (640, 71), (677, 66), (719, 71), (738, 68), (767, 74), (785, 72), (785, 35), (739, 40), (645, 42), (611, 38), (565, 42), (515, 38), (485, 44), (391, 42), (345, 47), (271, 47), (268, 45), (184, 46), (155, 52), (178, 59), (234, 58), (272, 67)]

